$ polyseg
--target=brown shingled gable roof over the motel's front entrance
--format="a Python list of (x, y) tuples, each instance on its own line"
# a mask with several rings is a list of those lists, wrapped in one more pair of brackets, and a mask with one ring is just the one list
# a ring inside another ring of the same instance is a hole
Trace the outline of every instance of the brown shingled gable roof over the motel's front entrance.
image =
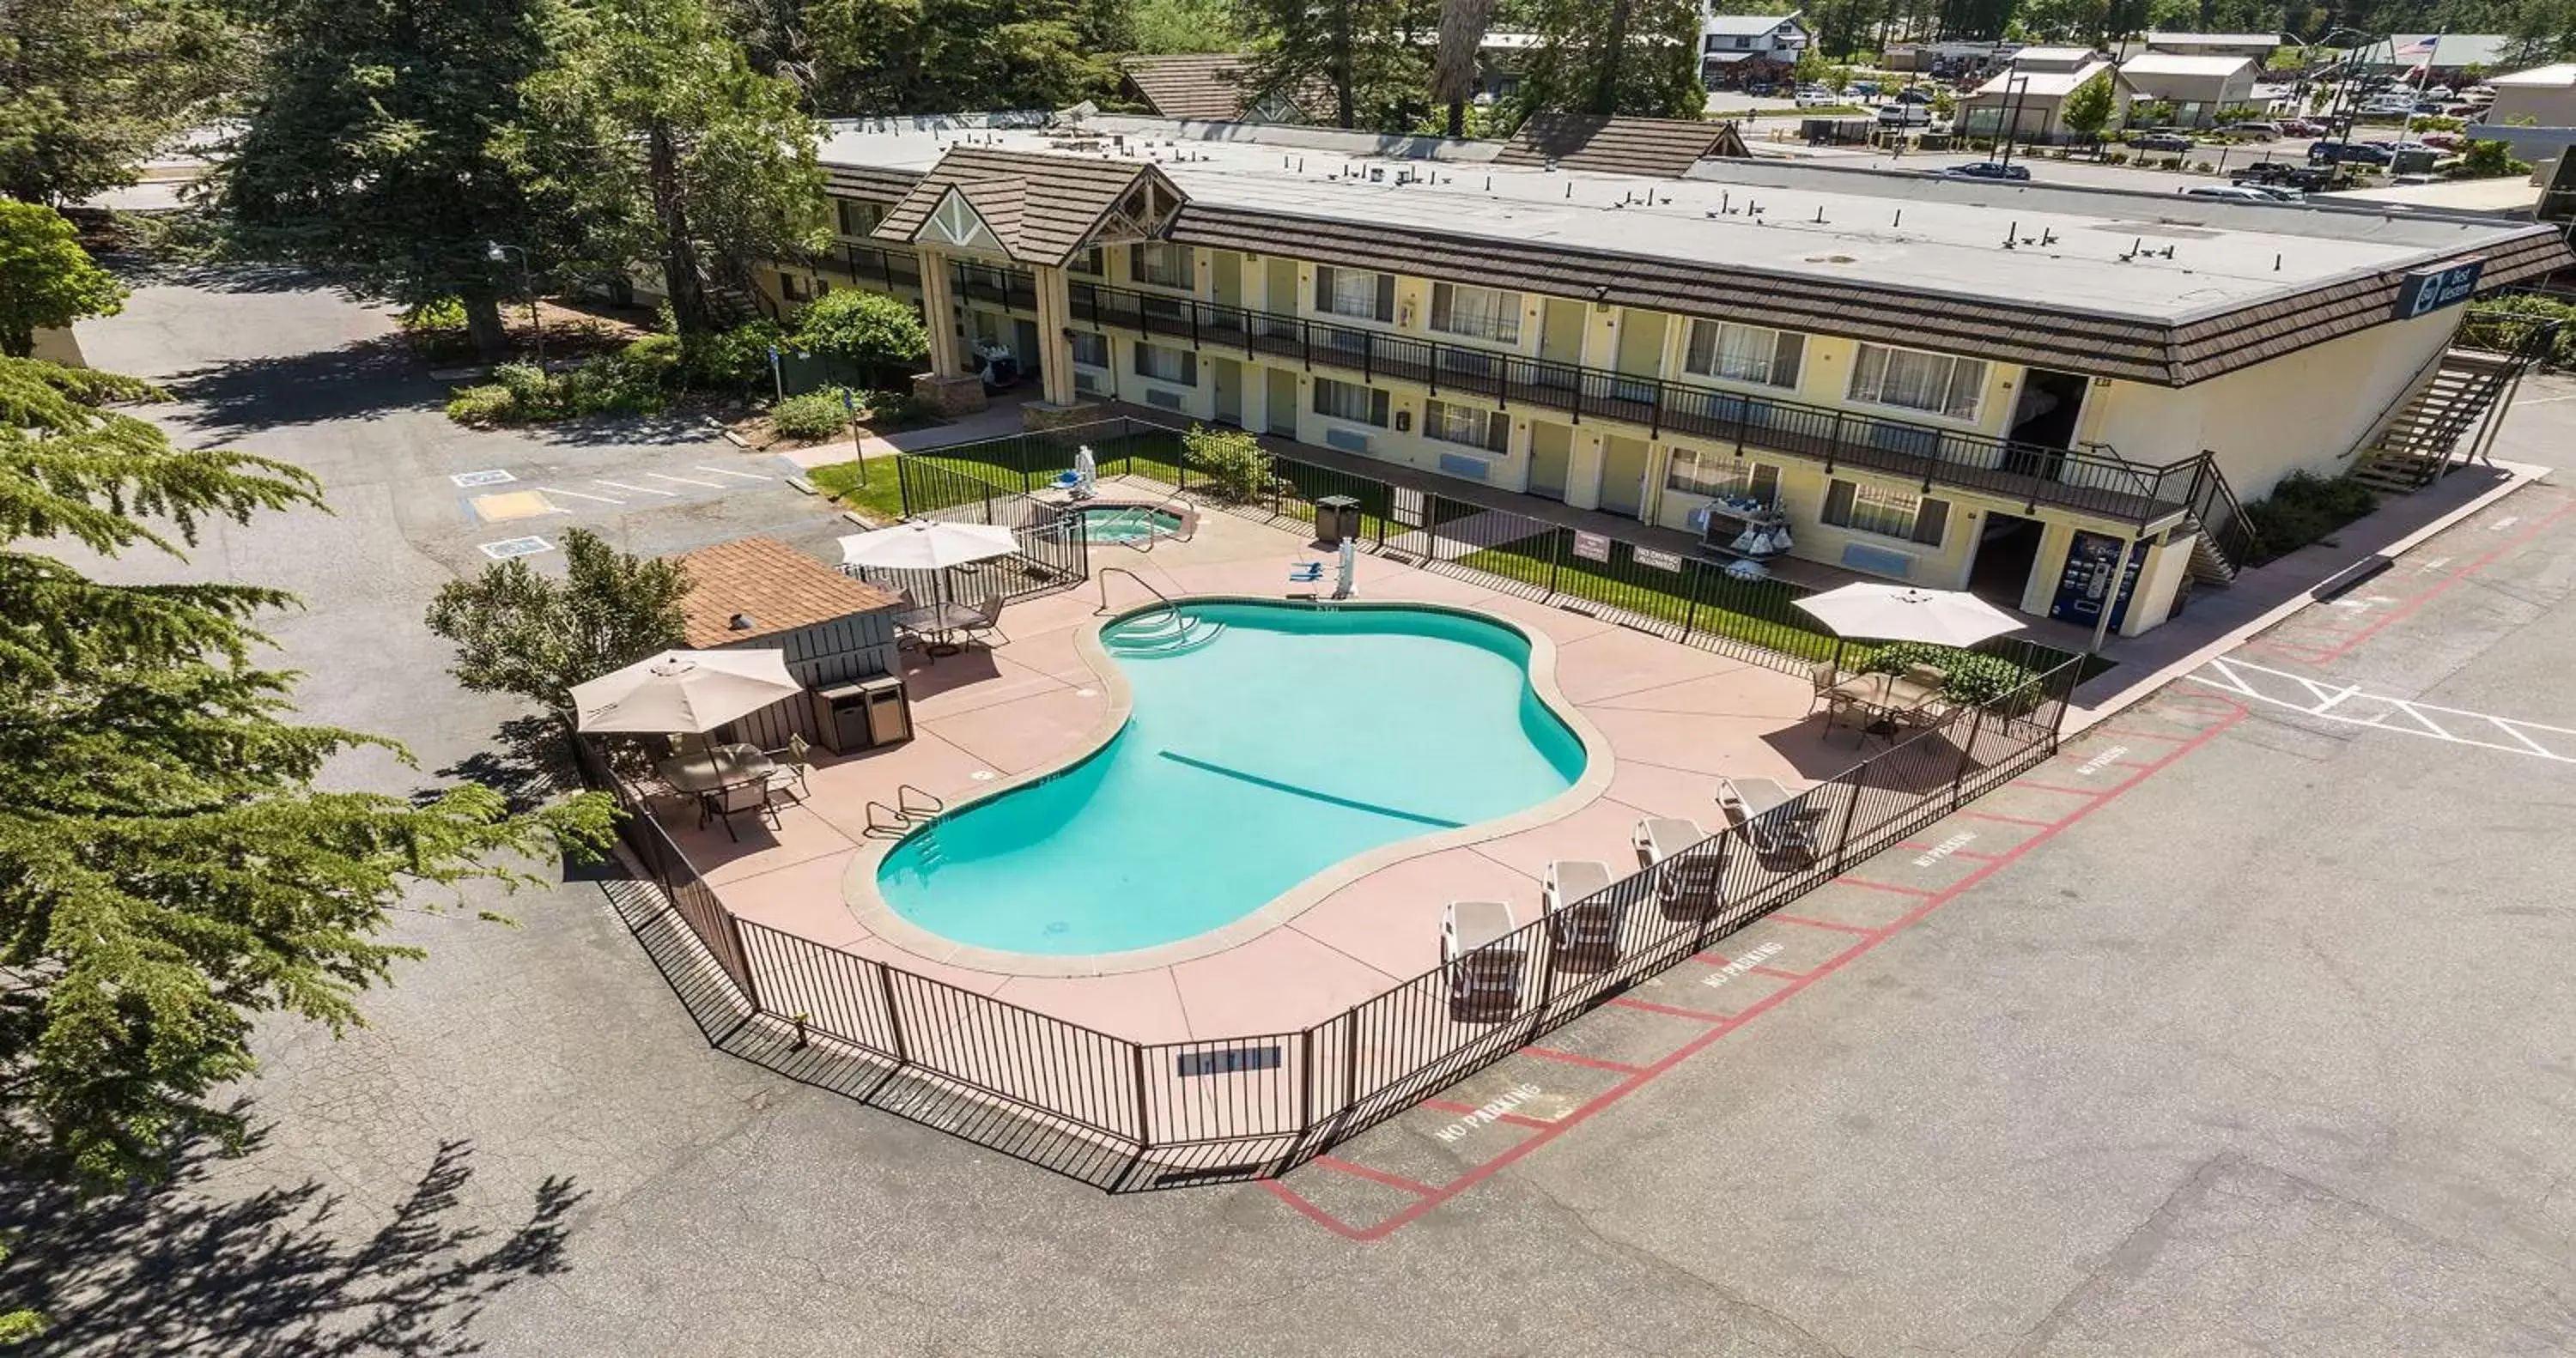
[[(912, 245), (948, 188), (963, 188), (1010, 258), (1061, 265), (1090, 240), (1103, 216), (1139, 183), (1154, 180), (1180, 201), (1182, 193), (1162, 170), (1144, 162), (1077, 160), (1066, 155), (997, 152), (948, 147), (894, 211), (871, 232), (876, 240)], [(997, 222), (994, 214), (1002, 214)]]

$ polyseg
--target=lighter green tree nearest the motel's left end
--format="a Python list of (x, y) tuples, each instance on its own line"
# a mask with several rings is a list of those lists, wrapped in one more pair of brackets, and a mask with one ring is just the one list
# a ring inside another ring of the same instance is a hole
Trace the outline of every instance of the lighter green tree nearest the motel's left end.
[(549, 33), (507, 160), (582, 224), (582, 271), (649, 260), (693, 338), (719, 320), (708, 281), (747, 286), (755, 263), (822, 247), (822, 129), (708, 0), (572, 0)]

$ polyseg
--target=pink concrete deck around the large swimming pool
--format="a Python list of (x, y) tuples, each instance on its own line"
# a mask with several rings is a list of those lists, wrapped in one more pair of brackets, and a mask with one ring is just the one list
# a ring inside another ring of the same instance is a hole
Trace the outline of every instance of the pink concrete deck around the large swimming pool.
[[(912, 742), (840, 760), (817, 752), (811, 796), (783, 804), (775, 830), (737, 817), (739, 843), (721, 825), (701, 830), (688, 809), (665, 812), (665, 825), (744, 920), (1123, 1038), (1203, 1041), (1303, 1028), (1437, 966), (1440, 910), (1453, 899), (1502, 899), (1517, 920), (1535, 920), (1548, 861), (1600, 858), (1625, 874), (1636, 866), (1631, 830), (1641, 817), (1721, 825), (1713, 801), (1721, 776), (1798, 789), (1860, 760), (1850, 732), (1826, 740), (1824, 716), (1808, 716), (1811, 688), (1801, 675), (1363, 554), (1365, 600), (1473, 608), (1553, 639), (1566, 703), (1615, 760), (1605, 791), (1546, 825), (1378, 866), (1231, 948), (1139, 971), (989, 971), (860, 925), (845, 879), (886, 845), (868, 837), (871, 801), (891, 807), (909, 783), (956, 804), (1095, 747), (1118, 685), (1092, 670), (1077, 636), (1103, 621), (1103, 569), (1131, 569), (1172, 598), (1283, 598), (1314, 590), (1285, 580), (1298, 559), (1324, 551), (1298, 533), (1224, 513), (1203, 515), (1193, 541), (1164, 539), (1151, 551), (1092, 546), (1095, 580), (1012, 603), (1002, 616), (1007, 644), (935, 662), (904, 652)], [(1115, 575), (1108, 598), (1115, 611), (1151, 603)]]

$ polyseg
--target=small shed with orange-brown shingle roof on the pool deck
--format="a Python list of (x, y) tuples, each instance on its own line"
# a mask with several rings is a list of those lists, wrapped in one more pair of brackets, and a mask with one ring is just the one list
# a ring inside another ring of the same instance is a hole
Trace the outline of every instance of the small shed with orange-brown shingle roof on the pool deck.
[[(827, 688), (894, 673), (896, 598), (773, 539), (734, 539), (677, 557), (696, 582), (688, 590), (693, 649), (783, 649), (788, 675)], [(724, 729), (775, 750), (801, 734), (819, 742), (814, 703), (796, 696)]]

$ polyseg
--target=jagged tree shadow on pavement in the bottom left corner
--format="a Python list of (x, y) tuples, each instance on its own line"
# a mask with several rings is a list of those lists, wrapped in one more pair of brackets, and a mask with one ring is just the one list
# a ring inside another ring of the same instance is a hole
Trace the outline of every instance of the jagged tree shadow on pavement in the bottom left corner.
[(332, 1358), (474, 1353), (482, 1306), (567, 1270), (572, 1180), (538, 1185), (505, 1234), (459, 1224), (471, 1144), (446, 1142), (381, 1227), (307, 1180), (247, 1198), (209, 1193), (211, 1152), (183, 1152), (167, 1185), (80, 1201), (52, 1185), (0, 1188), (0, 1296), (52, 1330), (44, 1353)]

